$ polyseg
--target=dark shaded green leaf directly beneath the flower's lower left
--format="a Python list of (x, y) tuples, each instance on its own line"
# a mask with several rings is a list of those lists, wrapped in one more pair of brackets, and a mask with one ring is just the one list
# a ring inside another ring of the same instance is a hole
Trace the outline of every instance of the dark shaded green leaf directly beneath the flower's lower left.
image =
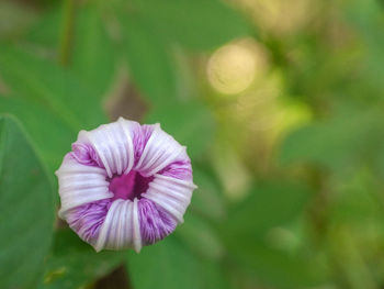
[(124, 258), (121, 252), (95, 253), (71, 230), (60, 230), (55, 234), (41, 288), (84, 288), (111, 273)]

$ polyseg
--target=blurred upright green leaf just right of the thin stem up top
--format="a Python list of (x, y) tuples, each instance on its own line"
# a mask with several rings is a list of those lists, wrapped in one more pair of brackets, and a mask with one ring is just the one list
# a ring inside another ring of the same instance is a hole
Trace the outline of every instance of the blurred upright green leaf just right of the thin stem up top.
[(92, 88), (100, 101), (114, 77), (114, 47), (98, 9), (87, 5), (77, 12), (70, 70)]

